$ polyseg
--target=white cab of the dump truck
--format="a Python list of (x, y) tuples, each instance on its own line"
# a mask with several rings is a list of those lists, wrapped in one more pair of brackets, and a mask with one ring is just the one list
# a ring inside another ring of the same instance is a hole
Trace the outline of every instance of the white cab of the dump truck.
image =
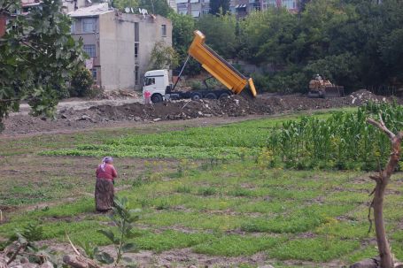
[(144, 73), (143, 96), (145, 91), (150, 92), (152, 103), (164, 100), (167, 87), (170, 87), (168, 70), (152, 70)]

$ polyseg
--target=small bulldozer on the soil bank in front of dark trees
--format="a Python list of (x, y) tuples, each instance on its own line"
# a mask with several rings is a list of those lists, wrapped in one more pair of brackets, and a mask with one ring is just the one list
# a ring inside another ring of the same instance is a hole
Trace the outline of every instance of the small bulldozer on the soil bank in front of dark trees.
[(337, 97), (345, 96), (345, 88), (332, 84), (329, 80), (322, 80), (319, 74), (316, 74), (313, 80), (309, 81), (309, 97)]

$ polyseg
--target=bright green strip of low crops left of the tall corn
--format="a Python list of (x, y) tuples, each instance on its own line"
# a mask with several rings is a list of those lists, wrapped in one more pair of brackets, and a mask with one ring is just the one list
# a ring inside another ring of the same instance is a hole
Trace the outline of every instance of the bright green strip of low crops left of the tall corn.
[(191, 127), (158, 134), (130, 134), (103, 144), (45, 151), (48, 156), (239, 159), (256, 156), (267, 145), (275, 120), (245, 121), (226, 126)]

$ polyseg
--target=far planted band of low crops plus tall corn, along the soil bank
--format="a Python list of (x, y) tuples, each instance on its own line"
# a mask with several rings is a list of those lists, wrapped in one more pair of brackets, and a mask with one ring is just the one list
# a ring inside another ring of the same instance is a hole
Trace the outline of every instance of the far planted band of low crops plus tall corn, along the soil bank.
[(390, 149), (388, 138), (366, 122), (369, 115), (376, 118), (379, 112), (392, 131), (402, 127), (402, 106), (369, 103), (354, 112), (130, 134), (103, 144), (81, 144), (74, 149), (42, 154), (179, 159), (254, 157), (263, 166), (374, 170), (384, 165)]

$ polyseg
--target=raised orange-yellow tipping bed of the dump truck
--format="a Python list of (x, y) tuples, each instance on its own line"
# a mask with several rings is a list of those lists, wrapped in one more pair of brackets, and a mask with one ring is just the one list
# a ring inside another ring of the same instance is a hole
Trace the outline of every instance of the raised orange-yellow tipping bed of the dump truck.
[(256, 88), (252, 78), (246, 78), (232, 65), (215, 53), (205, 44), (205, 34), (195, 31), (195, 38), (190, 45), (189, 54), (194, 57), (205, 70), (235, 94), (241, 93), (248, 85), (252, 96), (256, 96)]

